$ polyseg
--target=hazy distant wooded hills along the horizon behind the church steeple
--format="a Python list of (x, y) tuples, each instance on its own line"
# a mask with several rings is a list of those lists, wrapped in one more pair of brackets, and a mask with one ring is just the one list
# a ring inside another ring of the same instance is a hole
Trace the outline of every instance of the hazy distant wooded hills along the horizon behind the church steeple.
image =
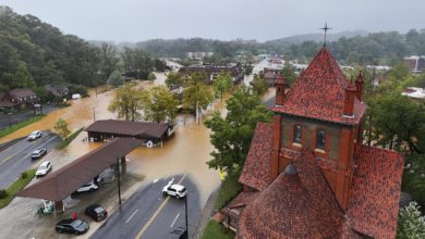
[[(311, 60), (323, 41), (293, 43), (289, 40), (257, 42), (255, 40), (219, 41), (211, 39), (155, 39), (135, 45), (156, 56), (184, 58), (190, 51), (211, 51), (222, 58), (233, 58), (250, 52), (283, 54), (289, 59)], [(408, 34), (397, 32), (374, 33), (366, 36), (341, 37), (328, 42), (335, 58), (342, 64), (394, 65), (405, 55), (425, 54), (425, 29), (411, 29)]]

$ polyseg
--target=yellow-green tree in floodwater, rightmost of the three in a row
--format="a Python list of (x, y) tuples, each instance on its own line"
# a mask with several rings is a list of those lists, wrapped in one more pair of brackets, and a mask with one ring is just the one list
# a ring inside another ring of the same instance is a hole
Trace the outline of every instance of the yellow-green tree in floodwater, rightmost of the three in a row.
[(183, 105), (185, 109), (193, 110), (196, 121), (201, 121), (201, 110), (207, 109), (214, 100), (211, 89), (204, 85), (197, 76), (192, 76), (187, 87), (183, 91)]

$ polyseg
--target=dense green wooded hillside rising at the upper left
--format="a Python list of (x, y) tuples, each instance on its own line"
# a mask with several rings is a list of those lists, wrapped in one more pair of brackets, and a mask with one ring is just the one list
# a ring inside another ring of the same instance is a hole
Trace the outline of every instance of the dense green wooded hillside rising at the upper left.
[(145, 79), (166, 64), (137, 49), (121, 54), (114, 46), (95, 46), (33, 15), (20, 15), (0, 7), (0, 91), (45, 84), (105, 84), (112, 72)]

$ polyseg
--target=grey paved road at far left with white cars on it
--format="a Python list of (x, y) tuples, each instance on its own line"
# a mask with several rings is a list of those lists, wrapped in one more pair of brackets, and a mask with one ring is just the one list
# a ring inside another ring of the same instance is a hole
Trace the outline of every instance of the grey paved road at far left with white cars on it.
[(8, 187), (22, 172), (42, 160), (31, 159), (34, 150), (46, 148), (49, 152), (59, 141), (60, 138), (57, 135), (44, 131), (42, 137), (37, 140), (27, 141), (24, 138), (2, 150), (0, 152), (0, 189)]

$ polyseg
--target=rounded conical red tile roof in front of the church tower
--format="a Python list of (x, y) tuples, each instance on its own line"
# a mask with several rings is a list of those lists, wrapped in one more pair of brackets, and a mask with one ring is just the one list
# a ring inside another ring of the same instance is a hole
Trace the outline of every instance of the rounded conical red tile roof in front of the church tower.
[(311, 152), (242, 213), (238, 238), (338, 238), (344, 216)]

